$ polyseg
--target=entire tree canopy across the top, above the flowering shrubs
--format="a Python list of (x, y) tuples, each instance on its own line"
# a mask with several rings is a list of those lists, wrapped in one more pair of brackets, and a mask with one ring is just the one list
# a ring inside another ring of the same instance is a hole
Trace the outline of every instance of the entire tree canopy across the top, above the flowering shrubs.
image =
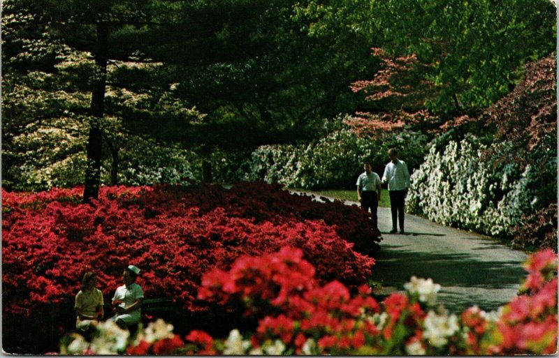
[(4, 184), (86, 197), (146, 152), (199, 165), (340, 113), (477, 115), (556, 36), (548, 0), (8, 0), (2, 16)]

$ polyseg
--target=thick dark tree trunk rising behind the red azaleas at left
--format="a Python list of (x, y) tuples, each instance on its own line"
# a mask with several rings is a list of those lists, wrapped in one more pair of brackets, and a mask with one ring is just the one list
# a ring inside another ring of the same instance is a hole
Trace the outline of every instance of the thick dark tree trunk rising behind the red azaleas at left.
[(83, 201), (91, 202), (99, 196), (99, 183), (101, 181), (101, 148), (103, 135), (99, 121), (104, 114), (105, 88), (107, 81), (108, 57), (108, 24), (97, 24), (97, 45), (95, 51), (96, 73), (92, 91), (91, 114), (94, 117), (89, 125), (89, 138), (87, 140), (87, 166), (85, 168), (85, 188)]

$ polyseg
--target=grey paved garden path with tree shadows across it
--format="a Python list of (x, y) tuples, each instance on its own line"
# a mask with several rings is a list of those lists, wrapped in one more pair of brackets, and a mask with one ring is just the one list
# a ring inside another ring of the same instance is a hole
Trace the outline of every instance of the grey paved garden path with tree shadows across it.
[(528, 257), (522, 251), (411, 214), (406, 234), (389, 234), (390, 209), (379, 207), (378, 217), (383, 239), (372, 279), (382, 283), (383, 293), (403, 290), (411, 276), (433, 278), (442, 286), (438, 301), (453, 313), (474, 304), (493, 311), (516, 296)]

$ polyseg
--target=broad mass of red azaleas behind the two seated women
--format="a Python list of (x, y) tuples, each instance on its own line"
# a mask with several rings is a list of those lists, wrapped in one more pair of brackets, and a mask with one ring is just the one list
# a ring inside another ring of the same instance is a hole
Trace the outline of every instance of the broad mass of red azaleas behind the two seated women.
[(361, 209), (312, 202), (277, 185), (105, 187), (92, 206), (80, 203), (81, 193), (2, 193), (5, 349), (26, 340), (29, 349), (38, 337), (71, 329), (88, 270), (110, 301), (122, 269), (135, 264), (146, 297), (171, 297), (203, 315), (212, 304), (196, 297), (203, 274), (230, 269), (242, 255), (298, 247), (317, 282), (337, 279), (356, 290), (371, 276), (379, 247)]

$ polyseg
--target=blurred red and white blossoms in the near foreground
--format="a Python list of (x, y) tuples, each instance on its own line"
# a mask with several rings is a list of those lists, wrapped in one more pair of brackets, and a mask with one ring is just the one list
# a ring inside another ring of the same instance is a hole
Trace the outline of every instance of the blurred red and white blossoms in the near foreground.
[(129, 355), (549, 355), (557, 352), (557, 255), (539, 251), (525, 262), (528, 277), (518, 297), (498, 311), (477, 306), (459, 315), (437, 306), (440, 285), (412, 276), (405, 292), (382, 302), (367, 285), (358, 292), (339, 281), (314, 280), (303, 251), (243, 257), (228, 271), (212, 270), (198, 297), (239, 301), (259, 318), (252, 331), (233, 329), (215, 338), (194, 329), (151, 322), (130, 337), (111, 322), (91, 341), (77, 334), (61, 342), (62, 354)]

